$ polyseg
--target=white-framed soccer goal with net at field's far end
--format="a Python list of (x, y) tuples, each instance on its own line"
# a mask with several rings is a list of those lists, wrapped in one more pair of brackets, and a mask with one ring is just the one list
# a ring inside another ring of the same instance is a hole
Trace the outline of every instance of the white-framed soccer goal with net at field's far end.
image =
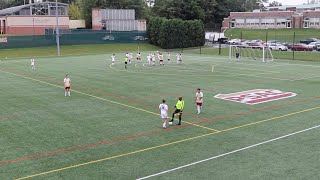
[(271, 50), (265, 46), (230, 45), (229, 59), (231, 61), (257, 60), (262, 62), (273, 61)]

